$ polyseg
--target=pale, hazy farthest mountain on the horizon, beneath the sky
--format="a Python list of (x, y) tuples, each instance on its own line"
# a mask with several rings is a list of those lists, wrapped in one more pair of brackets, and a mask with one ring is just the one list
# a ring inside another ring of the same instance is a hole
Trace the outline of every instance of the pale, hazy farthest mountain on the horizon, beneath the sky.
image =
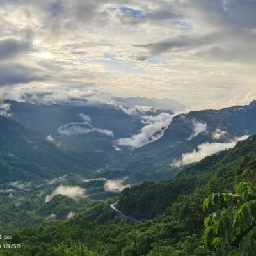
[(163, 98), (145, 98), (145, 97), (115, 97), (114, 100), (121, 104), (126, 104), (127, 106), (150, 106), (152, 108), (171, 110), (172, 112), (180, 112), (186, 109), (184, 104), (177, 102), (177, 100)]

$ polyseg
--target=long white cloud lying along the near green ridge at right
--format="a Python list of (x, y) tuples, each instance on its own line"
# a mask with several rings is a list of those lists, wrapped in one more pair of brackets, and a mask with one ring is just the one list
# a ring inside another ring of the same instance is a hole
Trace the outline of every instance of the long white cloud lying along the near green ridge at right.
[(197, 150), (193, 150), (193, 152), (182, 154), (182, 158), (180, 160), (174, 160), (172, 162), (173, 167), (181, 167), (186, 164), (191, 164), (198, 162), (204, 157), (211, 156), (216, 152), (220, 152), (221, 150), (225, 150), (228, 148), (234, 148), (237, 141), (245, 140), (248, 138), (247, 135), (242, 137), (236, 137), (233, 140), (226, 143), (203, 143), (197, 146)]

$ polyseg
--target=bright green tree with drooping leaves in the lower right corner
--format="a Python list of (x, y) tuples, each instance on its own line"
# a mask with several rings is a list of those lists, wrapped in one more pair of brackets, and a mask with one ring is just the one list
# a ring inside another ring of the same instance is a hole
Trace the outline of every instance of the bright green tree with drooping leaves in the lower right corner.
[(237, 256), (256, 255), (256, 186), (240, 182), (236, 193), (214, 193), (204, 200), (203, 209), (212, 212), (204, 220), (204, 241), (211, 248), (234, 244)]

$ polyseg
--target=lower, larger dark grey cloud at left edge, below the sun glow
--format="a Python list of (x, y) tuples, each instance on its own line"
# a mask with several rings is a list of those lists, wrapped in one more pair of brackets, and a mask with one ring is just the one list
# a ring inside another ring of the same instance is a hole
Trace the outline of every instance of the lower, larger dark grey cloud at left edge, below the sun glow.
[(20, 64), (0, 64), (0, 86), (44, 81), (49, 75), (42, 74), (39, 69)]

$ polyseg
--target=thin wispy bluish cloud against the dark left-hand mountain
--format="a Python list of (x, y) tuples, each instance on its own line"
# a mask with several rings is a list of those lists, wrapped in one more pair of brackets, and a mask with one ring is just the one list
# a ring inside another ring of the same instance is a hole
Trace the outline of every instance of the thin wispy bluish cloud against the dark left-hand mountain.
[(82, 118), (84, 122), (72, 122), (70, 124), (61, 125), (57, 130), (58, 134), (60, 134), (61, 136), (72, 136), (72, 135), (77, 136), (81, 134), (98, 132), (106, 136), (111, 136), (111, 137), (114, 136), (113, 132), (110, 130), (93, 127), (90, 124), (91, 123), (90, 116), (84, 115), (82, 113), (77, 114), (77, 116)]

